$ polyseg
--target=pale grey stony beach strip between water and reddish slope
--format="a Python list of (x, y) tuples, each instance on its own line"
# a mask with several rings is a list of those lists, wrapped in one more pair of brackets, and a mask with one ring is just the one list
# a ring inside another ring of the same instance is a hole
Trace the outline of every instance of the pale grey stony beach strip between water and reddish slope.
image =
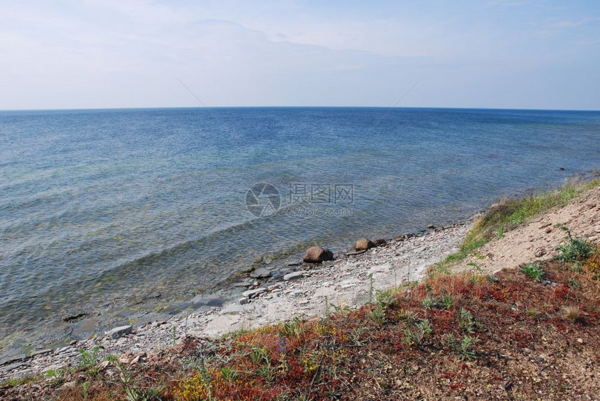
[[(366, 252), (341, 255), (322, 264), (289, 266), (294, 270), (283, 280), (258, 283), (240, 280), (232, 287), (246, 287), (241, 300), (222, 307), (205, 306), (180, 312), (170, 319), (148, 321), (143, 326), (114, 329), (110, 335), (92, 335), (88, 340), (55, 349), (38, 349), (31, 355), (0, 364), (0, 381), (43, 374), (47, 370), (77, 366), (80, 349), (102, 347), (103, 353), (142, 357), (178, 345), (186, 335), (218, 338), (234, 331), (250, 330), (294, 317), (310, 319), (338, 308), (358, 308), (370, 294), (403, 282), (423, 278), (430, 264), (440, 262), (458, 249), (472, 219), (416, 234), (403, 234)], [(248, 272), (249, 273), (249, 272)], [(249, 275), (249, 274), (246, 274)], [(232, 294), (234, 294), (232, 292)], [(139, 359), (139, 358), (138, 358)]]

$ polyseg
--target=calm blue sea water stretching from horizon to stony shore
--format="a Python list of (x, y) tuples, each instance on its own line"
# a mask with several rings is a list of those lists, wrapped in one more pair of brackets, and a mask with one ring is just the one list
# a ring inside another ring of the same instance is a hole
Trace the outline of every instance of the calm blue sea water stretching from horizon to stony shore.
[[(184, 298), (313, 243), (458, 220), (600, 168), (600, 112), (387, 112), (0, 112), (0, 343), (78, 306)], [(248, 211), (255, 183), (278, 190), (276, 213)]]

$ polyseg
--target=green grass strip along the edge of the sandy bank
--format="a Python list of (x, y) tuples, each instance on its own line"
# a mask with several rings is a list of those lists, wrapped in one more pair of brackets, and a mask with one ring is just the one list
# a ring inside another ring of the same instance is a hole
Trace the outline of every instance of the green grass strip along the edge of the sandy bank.
[(431, 266), (428, 274), (450, 273), (453, 264), (465, 259), (489, 241), (502, 238), (507, 232), (551, 209), (565, 206), (582, 192), (599, 185), (600, 180), (569, 181), (557, 190), (539, 192), (519, 199), (502, 199), (483, 217), (475, 220), (473, 228), (465, 236), (458, 251), (449, 255), (444, 261)]

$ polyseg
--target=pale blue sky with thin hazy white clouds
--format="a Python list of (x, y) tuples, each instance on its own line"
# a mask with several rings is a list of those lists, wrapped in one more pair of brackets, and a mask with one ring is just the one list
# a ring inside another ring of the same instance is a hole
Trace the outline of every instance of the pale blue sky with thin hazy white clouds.
[(393, 105), (600, 109), (600, 1), (0, 0), (0, 109)]

